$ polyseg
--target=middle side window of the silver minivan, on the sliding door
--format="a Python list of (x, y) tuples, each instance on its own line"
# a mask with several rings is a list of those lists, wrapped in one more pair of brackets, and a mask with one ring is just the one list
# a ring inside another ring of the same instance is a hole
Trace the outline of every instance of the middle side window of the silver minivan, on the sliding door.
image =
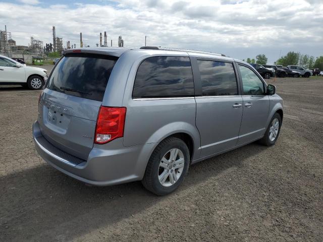
[(238, 95), (236, 75), (231, 63), (197, 61), (201, 74), (202, 95)]

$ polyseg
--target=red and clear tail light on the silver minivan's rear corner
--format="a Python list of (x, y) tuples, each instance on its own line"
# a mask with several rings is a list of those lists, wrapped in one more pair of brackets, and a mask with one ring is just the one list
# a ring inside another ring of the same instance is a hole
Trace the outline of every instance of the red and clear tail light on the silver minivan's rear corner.
[(100, 106), (96, 120), (95, 144), (105, 144), (123, 137), (125, 127), (125, 107)]

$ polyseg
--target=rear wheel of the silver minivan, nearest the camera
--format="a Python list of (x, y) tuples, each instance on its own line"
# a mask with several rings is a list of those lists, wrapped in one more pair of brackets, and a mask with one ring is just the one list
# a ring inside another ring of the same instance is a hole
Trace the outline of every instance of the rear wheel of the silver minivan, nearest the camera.
[(143, 186), (150, 192), (163, 196), (175, 191), (183, 182), (190, 160), (185, 142), (170, 137), (160, 142), (148, 161)]

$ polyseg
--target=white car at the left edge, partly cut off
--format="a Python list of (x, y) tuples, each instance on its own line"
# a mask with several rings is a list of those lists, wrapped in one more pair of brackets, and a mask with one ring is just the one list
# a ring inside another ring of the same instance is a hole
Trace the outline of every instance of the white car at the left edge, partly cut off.
[(31, 90), (39, 90), (47, 80), (47, 70), (27, 67), (13, 59), (0, 55), (0, 84), (23, 85)]

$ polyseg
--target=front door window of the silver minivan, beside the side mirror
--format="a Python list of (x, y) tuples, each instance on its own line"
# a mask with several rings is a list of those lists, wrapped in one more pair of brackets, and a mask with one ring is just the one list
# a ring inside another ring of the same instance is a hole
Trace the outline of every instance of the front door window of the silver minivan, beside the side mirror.
[(243, 95), (264, 95), (264, 86), (260, 78), (249, 68), (240, 66)]

